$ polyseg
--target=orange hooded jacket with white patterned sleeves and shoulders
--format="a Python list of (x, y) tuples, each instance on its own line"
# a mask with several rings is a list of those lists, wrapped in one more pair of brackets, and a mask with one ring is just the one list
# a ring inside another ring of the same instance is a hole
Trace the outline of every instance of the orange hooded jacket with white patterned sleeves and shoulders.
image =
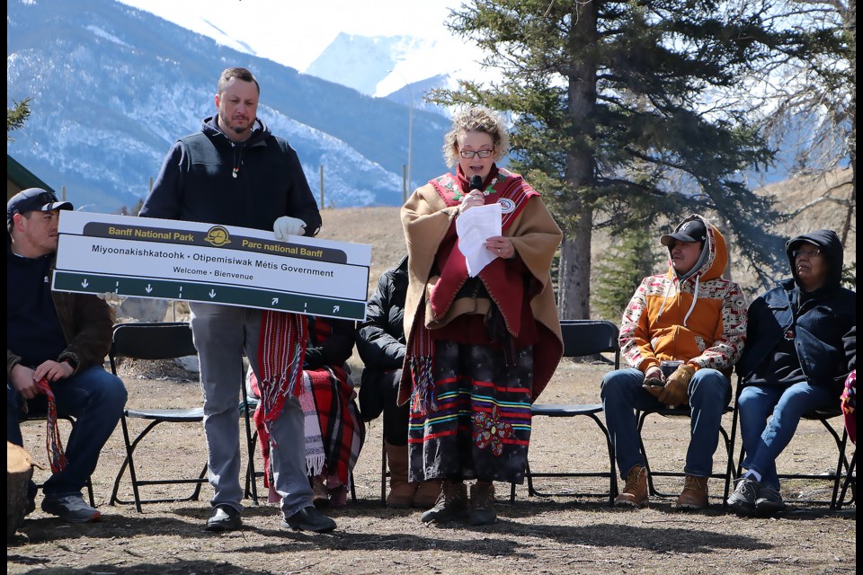
[(642, 280), (623, 314), (620, 350), (630, 366), (645, 373), (663, 359), (680, 359), (728, 376), (743, 351), (747, 306), (740, 287), (722, 278), (728, 263), (722, 234), (696, 214), (681, 226), (691, 219), (707, 228), (697, 270), (681, 281), (669, 261), (666, 274)]

